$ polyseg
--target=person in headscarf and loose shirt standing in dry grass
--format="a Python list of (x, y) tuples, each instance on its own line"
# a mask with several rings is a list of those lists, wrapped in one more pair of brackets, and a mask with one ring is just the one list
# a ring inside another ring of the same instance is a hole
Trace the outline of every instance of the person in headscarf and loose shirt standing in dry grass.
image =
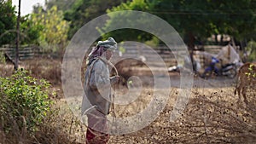
[(111, 85), (119, 81), (119, 76), (110, 78), (108, 65), (116, 48), (113, 37), (108, 37), (97, 43), (88, 58), (81, 107), (82, 118), (87, 116), (87, 143), (104, 144), (109, 139), (106, 115), (111, 104)]

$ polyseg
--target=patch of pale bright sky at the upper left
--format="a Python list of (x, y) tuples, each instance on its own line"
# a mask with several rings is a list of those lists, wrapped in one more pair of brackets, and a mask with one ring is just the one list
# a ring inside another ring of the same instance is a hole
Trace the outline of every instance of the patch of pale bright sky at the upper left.
[[(16, 6), (16, 11), (19, 8), (19, 0), (12, 0), (13, 5)], [(20, 15), (24, 16), (26, 14), (31, 14), (33, 10), (33, 5), (44, 5), (45, 0), (20, 0)]]

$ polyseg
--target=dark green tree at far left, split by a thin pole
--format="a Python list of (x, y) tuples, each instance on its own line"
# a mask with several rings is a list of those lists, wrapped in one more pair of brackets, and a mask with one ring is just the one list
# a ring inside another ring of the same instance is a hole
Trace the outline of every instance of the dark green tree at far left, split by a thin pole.
[[(15, 44), (17, 16), (11, 1), (0, 0), (0, 45)], [(20, 43), (37, 43), (40, 26), (32, 25), (29, 15), (20, 17)]]

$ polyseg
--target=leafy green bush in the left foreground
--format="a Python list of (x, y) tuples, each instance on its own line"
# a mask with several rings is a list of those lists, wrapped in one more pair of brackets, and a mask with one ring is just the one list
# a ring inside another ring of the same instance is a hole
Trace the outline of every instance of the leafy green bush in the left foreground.
[(26, 71), (0, 78), (0, 122), (6, 133), (26, 129), (32, 133), (49, 112), (49, 83)]

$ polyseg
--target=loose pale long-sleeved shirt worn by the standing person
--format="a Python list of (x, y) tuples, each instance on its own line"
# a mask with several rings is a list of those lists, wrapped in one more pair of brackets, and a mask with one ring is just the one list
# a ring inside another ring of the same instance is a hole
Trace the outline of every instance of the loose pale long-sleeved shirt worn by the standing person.
[(108, 64), (96, 59), (87, 66), (84, 82), (84, 98), (82, 102), (82, 115), (90, 107), (105, 115), (108, 114), (111, 104), (111, 84), (113, 78), (109, 77)]

